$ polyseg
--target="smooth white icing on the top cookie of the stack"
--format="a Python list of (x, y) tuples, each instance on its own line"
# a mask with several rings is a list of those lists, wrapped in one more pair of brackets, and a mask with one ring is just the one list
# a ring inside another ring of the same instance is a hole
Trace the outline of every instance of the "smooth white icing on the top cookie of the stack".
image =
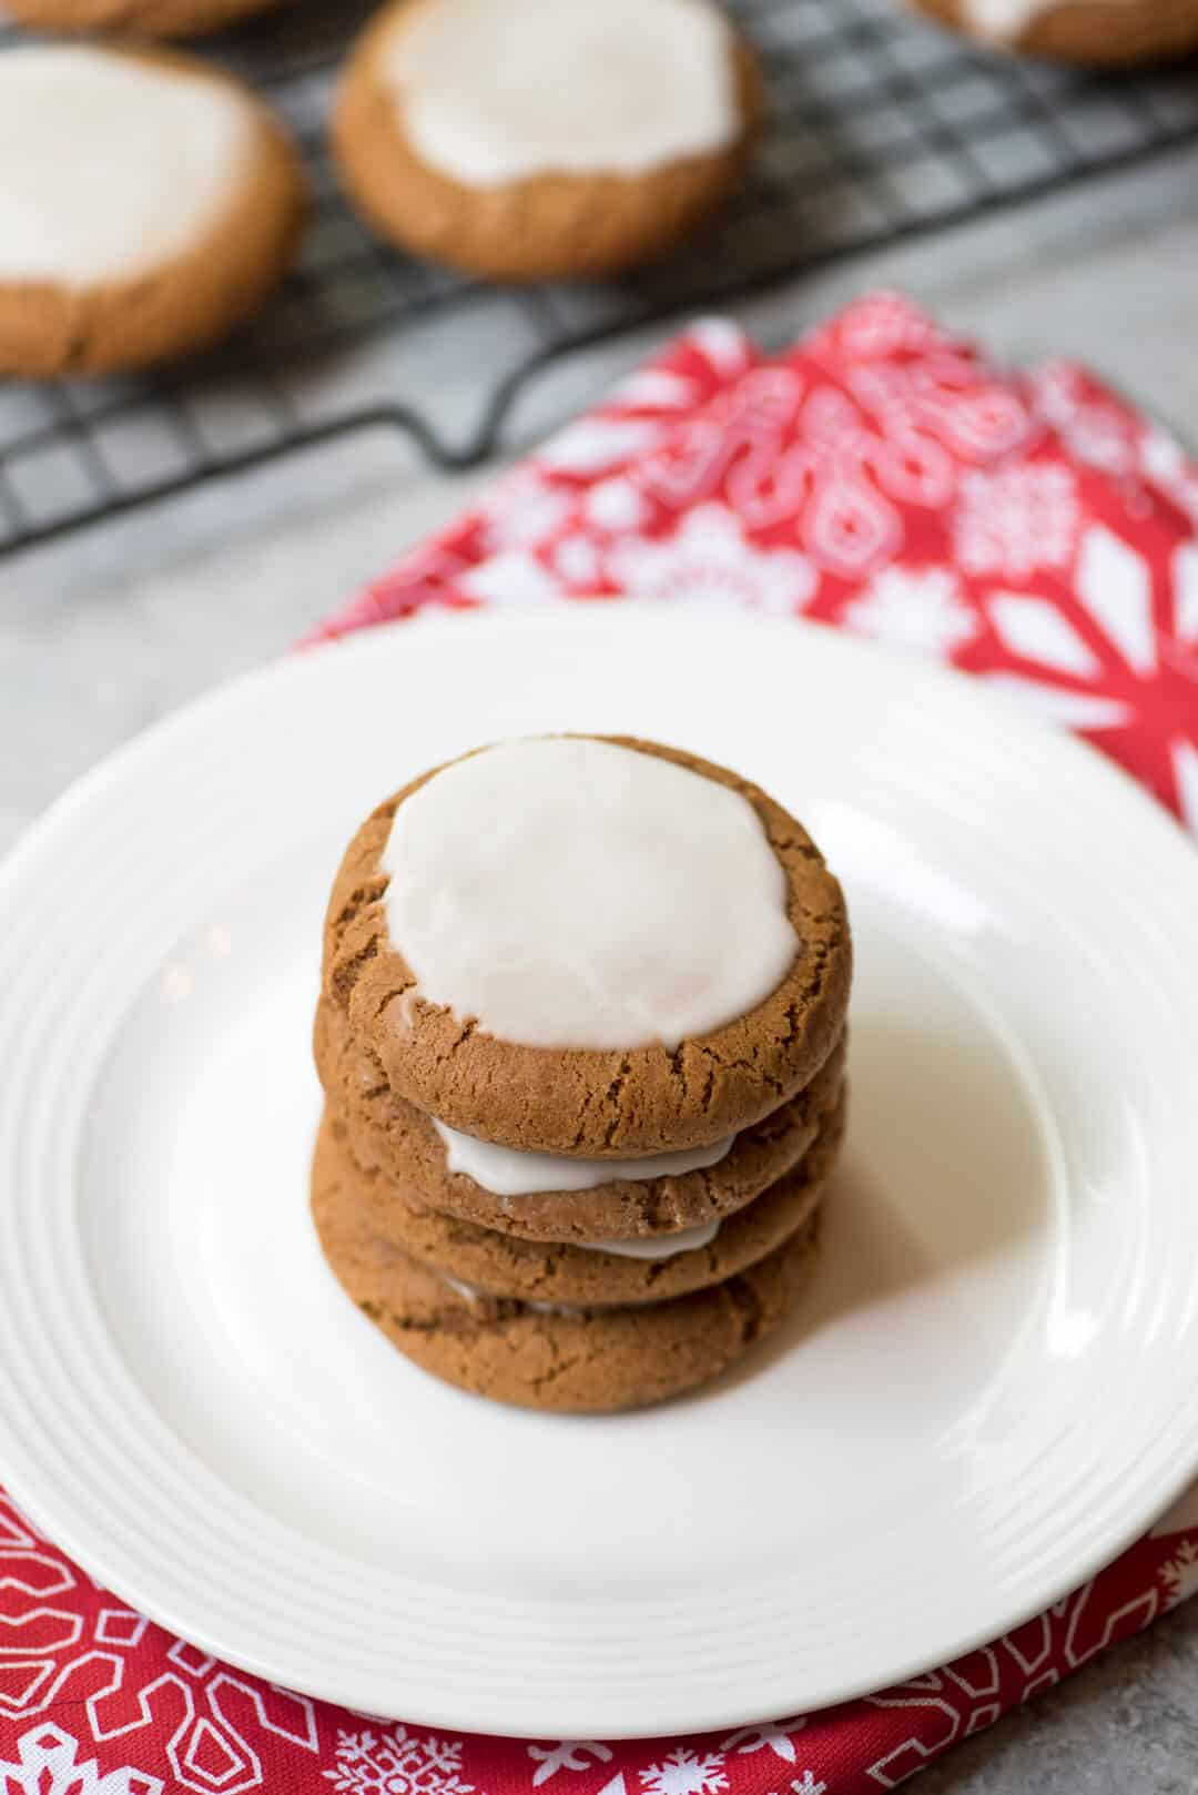
[(753, 806), (605, 741), (456, 761), (399, 806), (383, 867), (420, 996), (530, 1046), (674, 1050), (753, 1011), (797, 948)]

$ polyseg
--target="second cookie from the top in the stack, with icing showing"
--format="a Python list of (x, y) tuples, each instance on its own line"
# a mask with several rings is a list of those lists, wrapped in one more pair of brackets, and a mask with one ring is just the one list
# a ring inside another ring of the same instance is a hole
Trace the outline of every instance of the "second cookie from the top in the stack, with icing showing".
[(316, 1070), (359, 1165), (413, 1201), (528, 1240), (603, 1240), (704, 1228), (790, 1172), (841, 1097), (844, 1039), (810, 1084), (753, 1127), (643, 1160), (530, 1154), (460, 1134), (397, 1097), (348, 1021), (322, 1000)]

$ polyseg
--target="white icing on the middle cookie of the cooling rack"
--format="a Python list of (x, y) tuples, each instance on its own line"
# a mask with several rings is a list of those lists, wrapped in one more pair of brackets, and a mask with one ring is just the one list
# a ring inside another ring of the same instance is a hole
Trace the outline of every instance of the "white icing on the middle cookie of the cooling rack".
[(424, 0), (399, 13), (379, 74), (413, 149), (469, 187), (645, 174), (740, 129), (708, 0)]

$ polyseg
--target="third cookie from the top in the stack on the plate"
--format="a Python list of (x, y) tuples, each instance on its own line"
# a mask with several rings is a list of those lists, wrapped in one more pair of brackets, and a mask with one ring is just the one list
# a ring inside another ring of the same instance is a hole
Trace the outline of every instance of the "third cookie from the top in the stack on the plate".
[[(354, 1160), (345, 1127), (329, 1111), (313, 1160), (313, 1199), (343, 1213), (410, 1258), (485, 1296), (603, 1309), (661, 1303), (745, 1271), (815, 1213), (844, 1133), (844, 1099), (799, 1165), (754, 1203), (717, 1224), (715, 1237), (666, 1258), (586, 1246), (521, 1240), (429, 1210), (377, 1170)], [(663, 1248), (670, 1246), (668, 1237)]]

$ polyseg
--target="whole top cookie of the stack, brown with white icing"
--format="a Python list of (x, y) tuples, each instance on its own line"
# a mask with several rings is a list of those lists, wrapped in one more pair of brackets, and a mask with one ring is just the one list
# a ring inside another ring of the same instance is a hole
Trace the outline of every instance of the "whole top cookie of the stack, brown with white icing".
[(350, 842), (323, 991), (399, 1097), (528, 1152), (700, 1147), (828, 1059), (841, 887), (758, 786), (677, 749), (546, 736), (415, 779)]

